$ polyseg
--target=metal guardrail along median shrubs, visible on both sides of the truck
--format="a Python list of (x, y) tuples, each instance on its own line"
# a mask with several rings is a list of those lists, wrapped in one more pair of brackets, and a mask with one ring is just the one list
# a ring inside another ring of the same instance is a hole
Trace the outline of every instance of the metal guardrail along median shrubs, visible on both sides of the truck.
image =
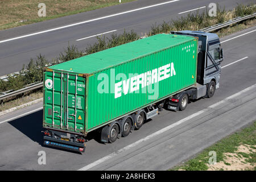
[[(228, 20), (228, 21), (226, 21), (224, 23), (215, 24), (214, 26), (203, 28), (200, 31), (212, 32), (212, 31), (220, 30), (221, 28), (228, 27), (231, 24), (238, 23), (238, 22), (241, 22), (243, 20), (254, 18), (255, 16), (256, 16), (256, 13), (254, 13), (252, 15), (243, 16), (243, 17), (233, 18), (233, 19), (230, 19), (230, 20)], [(2, 76), (2, 77), (0, 77), (0, 79), (2, 79), (2, 80), (3, 79), (7, 79), (7, 77), (6, 76)], [(6, 98), (17, 96), (19, 94), (26, 93), (26, 92), (29, 92), (31, 90), (35, 90), (35, 89), (42, 88), (42, 87), (43, 87), (43, 82), (40, 82), (40, 83), (30, 84), (30, 86), (27, 86), (27, 87), (25, 87), (23, 89), (15, 90), (15, 91), (10, 92), (10, 93), (6, 93), (5, 92), (5, 93), (2, 93), (2, 95), (0, 96), (0, 101), (5, 100)]]

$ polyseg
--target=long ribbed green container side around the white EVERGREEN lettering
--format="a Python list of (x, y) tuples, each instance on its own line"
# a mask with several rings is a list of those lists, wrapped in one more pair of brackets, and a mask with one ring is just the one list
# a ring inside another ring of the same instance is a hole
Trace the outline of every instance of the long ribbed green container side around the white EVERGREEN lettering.
[[(130, 111), (135, 111), (195, 84), (196, 59), (197, 40), (193, 39), (89, 76), (88, 85), (86, 85), (88, 89), (86, 130), (90, 131), (97, 126), (103, 126), (104, 123)], [(145, 87), (142, 88), (140, 84), (137, 91), (130, 93), (131, 84), (129, 84), (129, 93), (124, 94), (122, 82), (121, 97), (115, 98), (115, 84), (119, 81), (127, 81), (129, 78), (131, 81), (131, 78), (136, 75), (152, 72), (153, 69), (167, 64), (170, 64), (170, 77), (150, 84), (149, 87), (152, 86), (153, 90), (148, 90), (147, 86), (144, 92)], [(172, 76), (171, 64), (174, 65), (175, 70), (172, 71)]]

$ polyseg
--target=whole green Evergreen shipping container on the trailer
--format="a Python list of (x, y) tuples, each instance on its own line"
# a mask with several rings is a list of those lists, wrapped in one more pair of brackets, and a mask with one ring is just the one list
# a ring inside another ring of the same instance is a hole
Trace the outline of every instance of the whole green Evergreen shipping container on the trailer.
[(86, 134), (196, 84), (197, 39), (158, 34), (46, 68), (44, 127)]

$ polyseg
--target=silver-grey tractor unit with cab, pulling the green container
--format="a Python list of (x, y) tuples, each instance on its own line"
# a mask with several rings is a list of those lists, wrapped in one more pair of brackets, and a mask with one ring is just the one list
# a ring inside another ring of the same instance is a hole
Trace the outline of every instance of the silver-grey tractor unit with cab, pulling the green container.
[[(197, 77), (194, 88), (185, 90), (170, 98), (168, 109), (184, 110), (189, 99), (212, 97), (220, 87), (221, 62), (223, 50), (217, 34), (203, 31), (171, 31), (175, 35), (187, 35), (198, 38)], [(185, 98), (184, 98), (185, 97)], [(184, 101), (187, 100), (187, 101)], [(184, 103), (184, 104), (183, 104)], [(183, 106), (182, 106), (183, 105)]]

